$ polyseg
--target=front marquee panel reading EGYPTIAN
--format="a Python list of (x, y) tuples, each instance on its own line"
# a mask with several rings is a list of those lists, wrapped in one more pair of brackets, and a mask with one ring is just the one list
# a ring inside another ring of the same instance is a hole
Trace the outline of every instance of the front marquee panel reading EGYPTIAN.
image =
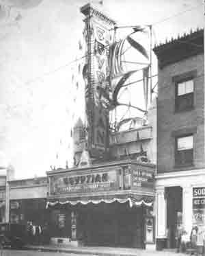
[(53, 176), (51, 194), (86, 193), (109, 191), (119, 187), (117, 171), (96, 172), (81, 175)]

